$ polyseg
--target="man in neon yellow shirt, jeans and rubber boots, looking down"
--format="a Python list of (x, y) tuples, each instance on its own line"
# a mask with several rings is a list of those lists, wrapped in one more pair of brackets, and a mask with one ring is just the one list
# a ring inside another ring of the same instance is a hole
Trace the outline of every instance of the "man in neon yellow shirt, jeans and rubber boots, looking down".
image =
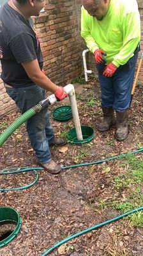
[[(82, 0), (81, 36), (94, 54), (102, 90), (103, 122), (117, 124), (116, 138), (128, 137), (128, 108), (140, 42), (136, 0)], [(116, 117), (114, 116), (116, 111)]]

